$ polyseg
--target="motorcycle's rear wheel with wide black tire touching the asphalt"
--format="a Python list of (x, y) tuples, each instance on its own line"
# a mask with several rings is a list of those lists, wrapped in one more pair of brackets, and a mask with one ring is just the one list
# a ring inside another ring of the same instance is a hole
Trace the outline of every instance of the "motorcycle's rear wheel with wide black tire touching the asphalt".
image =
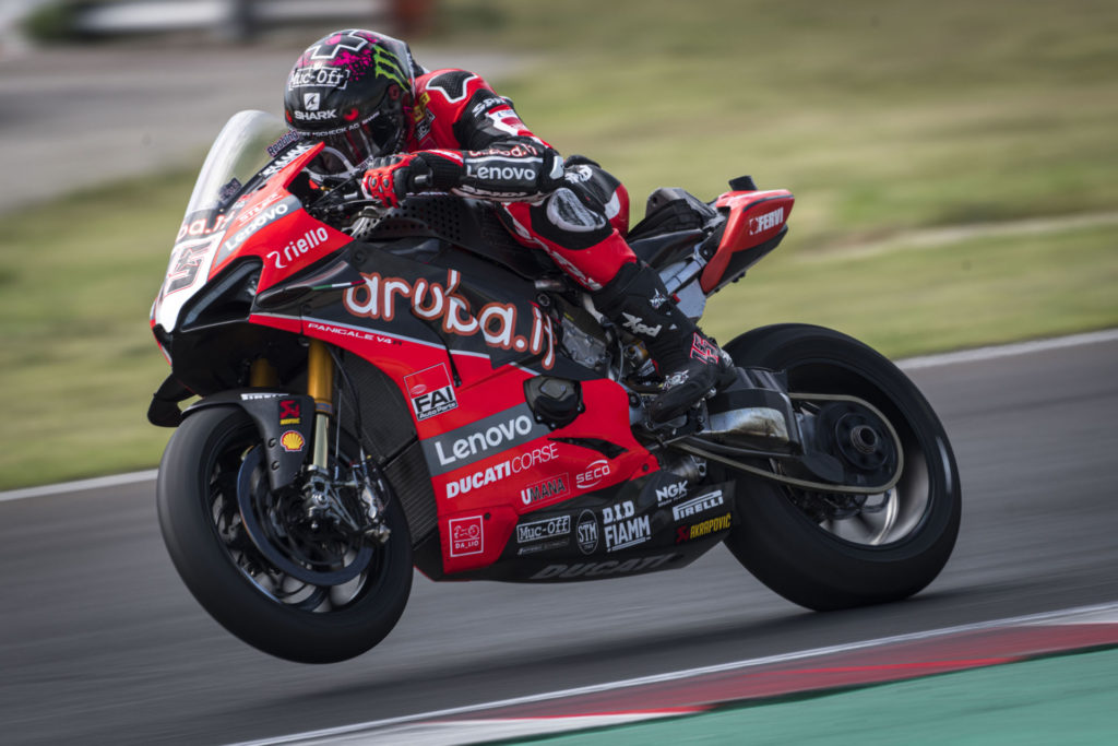
[(917, 387), (871, 348), (821, 327), (766, 327), (724, 349), (739, 366), (787, 371), (793, 395), (869, 402), (896, 429), (903, 463), (891, 490), (864, 495), (728, 471), (741, 494), (742, 521), (726, 540), (735, 557), (776, 593), (816, 611), (898, 601), (931, 583), (955, 546), (961, 506), (950, 443)]

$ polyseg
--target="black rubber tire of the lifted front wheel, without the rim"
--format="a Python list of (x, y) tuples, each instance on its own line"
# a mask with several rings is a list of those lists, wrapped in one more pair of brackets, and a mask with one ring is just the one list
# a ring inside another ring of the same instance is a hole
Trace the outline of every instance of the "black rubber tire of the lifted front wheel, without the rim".
[[(391, 536), (373, 547), (371, 559), (360, 559), (368, 564), (356, 578), (321, 587), (299, 582), (256, 549), (237, 507), (237, 476), (254, 469), (259, 441), (248, 415), (231, 407), (196, 412), (176, 431), (158, 481), (171, 559), (206, 611), (248, 644), (303, 663), (360, 655), (396, 625), (411, 591), (411, 541), (400, 507), (389, 502)], [(258, 457), (255, 464), (263, 472)], [(266, 484), (263, 473), (256, 484)], [(343, 556), (370, 554), (353, 547)]]

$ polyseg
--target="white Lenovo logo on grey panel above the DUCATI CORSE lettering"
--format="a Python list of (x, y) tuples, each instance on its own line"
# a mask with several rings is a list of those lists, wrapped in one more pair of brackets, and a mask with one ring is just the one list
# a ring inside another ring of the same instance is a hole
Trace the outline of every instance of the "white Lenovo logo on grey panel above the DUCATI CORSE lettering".
[(432, 475), (445, 474), (549, 432), (547, 425), (536, 422), (527, 404), (519, 404), (472, 425), (427, 438), (423, 441), (423, 452)]

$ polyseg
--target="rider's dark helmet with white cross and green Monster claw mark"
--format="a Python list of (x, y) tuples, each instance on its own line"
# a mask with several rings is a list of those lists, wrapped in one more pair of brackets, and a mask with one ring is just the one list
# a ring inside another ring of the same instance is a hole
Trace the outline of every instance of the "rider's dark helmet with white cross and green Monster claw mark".
[(296, 60), (284, 92), (284, 116), (293, 130), (325, 142), (356, 168), (402, 149), (405, 108), (421, 72), (398, 39), (361, 29), (334, 31)]

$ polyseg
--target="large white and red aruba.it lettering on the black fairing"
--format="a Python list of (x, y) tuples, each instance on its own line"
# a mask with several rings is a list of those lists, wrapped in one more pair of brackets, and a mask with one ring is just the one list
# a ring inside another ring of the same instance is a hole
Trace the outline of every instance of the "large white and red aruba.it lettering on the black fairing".
[(517, 331), (519, 309), (512, 303), (486, 303), (476, 313), (470, 301), (457, 293), (461, 274), (448, 270), (446, 283), (419, 277), (415, 281), (383, 276), (377, 272), (361, 273), (364, 284), (345, 291), (345, 310), (356, 317), (392, 321), (399, 304), (406, 304), (414, 315), (437, 322), (447, 334), (473, 337), (481, 334), (485, 343), (502, 350), (530, 352), (541, 357), (540, 365), (555, 365), (555, 331), (551, 320), (536, 305), (527, 333)]

